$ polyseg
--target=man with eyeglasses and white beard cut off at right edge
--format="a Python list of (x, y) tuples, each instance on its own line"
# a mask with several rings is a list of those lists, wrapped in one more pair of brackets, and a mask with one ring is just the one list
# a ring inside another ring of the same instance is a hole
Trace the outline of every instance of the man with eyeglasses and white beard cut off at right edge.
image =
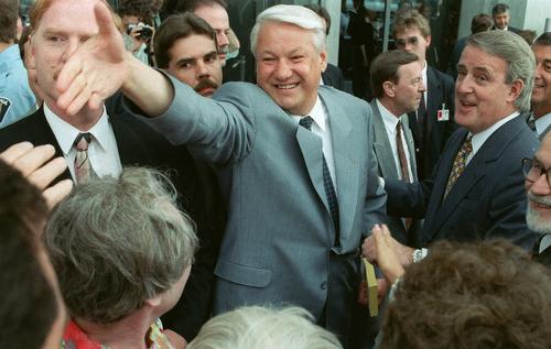
[(522, 160), (528, 197), (528, 227), (540, 233), (533, 259), (551, 268), (551, 134), (545, 135), (533, 159)]

